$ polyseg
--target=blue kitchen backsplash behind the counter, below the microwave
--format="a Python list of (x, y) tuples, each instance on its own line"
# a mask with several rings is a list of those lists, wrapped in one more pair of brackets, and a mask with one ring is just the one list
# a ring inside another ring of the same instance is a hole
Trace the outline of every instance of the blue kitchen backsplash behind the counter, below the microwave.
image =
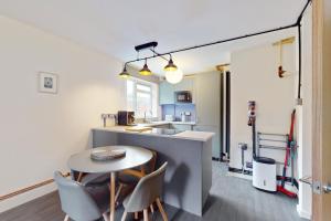
[(182, 112), (190, 112), (191, 113), (191, 120), (195, 122), (195, 105), (194, 104), (163, 104), (161, 105), (162, 109), (162, 120), (164, 120), (166, 115), (174, 115), (175, 120), (181, 120), (181, 113)]

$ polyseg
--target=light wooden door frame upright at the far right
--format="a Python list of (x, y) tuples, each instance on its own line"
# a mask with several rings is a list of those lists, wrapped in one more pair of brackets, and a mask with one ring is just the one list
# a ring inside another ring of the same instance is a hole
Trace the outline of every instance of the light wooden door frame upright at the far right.
[[(325, 60), (327, 46), (324, 45), (325, 27), (324, 27), (324, 2), (330, 0), (313, 0), (312, 1), (312, 180), (320, 181), (323, 185), (323, 126), (328, 124), (323, 114), (323, 78), (327, 74), (330, 74), (330, 67), (327, 67), (323, 63)], [(330, 4), (330, 3), (329, 3)], [(330, 17), (330, 14), (328, 14)], [(330, 18), (327, 18), (330, 19)], [(330, 51), (329, 51), (330, 53)], [(329, 57), (330, 59), (330, 57)], [(327, 70), (327, 69), (328, 70)], [(329, 73), (327, 73), (329, 72)], [(324, 97), (325, 101), (325, 97)], [(325, 134), (325, 133), (324, 133)], [(325, 147), (324, 147), (325, 148)], [(320, 188), (321, 189), (321, 188)], [(321, 194), (312, 194), (312, 220), (322, 221), (324, 219), (323, 208), (323, 190)]]

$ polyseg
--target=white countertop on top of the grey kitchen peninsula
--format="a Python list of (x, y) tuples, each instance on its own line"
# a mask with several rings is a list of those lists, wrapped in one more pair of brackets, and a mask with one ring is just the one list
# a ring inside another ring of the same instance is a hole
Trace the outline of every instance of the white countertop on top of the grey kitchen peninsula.
[(114, 131), (114, 133), (122, 133), (122, 134), (136, 134), (141, 136), (158, 136), (158, 137), (168, 137), (168, 138), (177, 138), (177, 139), (189, 139), (189, 140), (197, 140), (197, 141), (206, 141), (211, 139), (215, 134), (210, 131), (192, 131), (185, 130), (180, 131), (175, 135), (160, 135), (149, 131), (128, 131), (126, 128), (129, 126), (113, 126), (113, 127), (97, 127), (93, 128), (94, 130), (102, 131)]

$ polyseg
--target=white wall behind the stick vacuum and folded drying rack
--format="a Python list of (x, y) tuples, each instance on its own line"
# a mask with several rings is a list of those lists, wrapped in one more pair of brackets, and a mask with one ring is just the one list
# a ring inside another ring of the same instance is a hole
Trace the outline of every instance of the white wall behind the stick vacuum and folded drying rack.
[[(277, 74), (279, 48), (271, 43), (232, 53), (229, 167), (242, 168), (238, 143), (248, 144), (245, 161), (252, 161), (252, 127), (247, 126), (248, 101), (256, 101), (257, 131), (289, 133), (297, 77), (295, 44), (286, 44), (282, 51), (284, 69), (292, 72), (284, 78), (279, 78)], [(264, 149), (261, 156), (284, 162), (285, 151)], [(279, 175), (280, 169), (278, 167)]]

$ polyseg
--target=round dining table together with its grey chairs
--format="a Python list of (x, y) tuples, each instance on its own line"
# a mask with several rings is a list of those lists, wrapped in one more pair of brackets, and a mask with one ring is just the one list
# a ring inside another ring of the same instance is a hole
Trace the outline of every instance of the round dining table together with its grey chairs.
[[(71, 176), (54, 172), (64, 221), (125, 221), (129, 215), (149, 221), (157, 210), (168, 221), (162, 206), (168, 162), (157, 167), (157, 151), (138, 146), (103, 146), (72, 155)], [(116, 213), (119, 207), (121, 217)]]

